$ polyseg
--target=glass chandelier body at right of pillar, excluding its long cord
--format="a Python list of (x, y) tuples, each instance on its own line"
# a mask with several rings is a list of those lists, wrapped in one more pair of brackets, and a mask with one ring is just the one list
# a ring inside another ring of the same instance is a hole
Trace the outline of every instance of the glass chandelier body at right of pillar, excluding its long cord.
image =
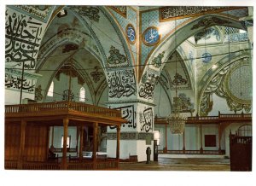
[(185, 128), (186, 117), (181, 113), (181, 99), (180, 97), (173, 97), (174, 111), (168, 116), (167, 121), (170, 125), (172, 134), (183, 134)]

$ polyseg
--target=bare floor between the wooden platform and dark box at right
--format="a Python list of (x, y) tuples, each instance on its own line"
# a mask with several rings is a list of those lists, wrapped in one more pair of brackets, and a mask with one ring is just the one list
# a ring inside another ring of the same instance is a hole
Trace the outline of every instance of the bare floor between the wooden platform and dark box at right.
[(230, 171), (230, 159), (159, 158), (158, 161), (121, 162), (122, 171)]

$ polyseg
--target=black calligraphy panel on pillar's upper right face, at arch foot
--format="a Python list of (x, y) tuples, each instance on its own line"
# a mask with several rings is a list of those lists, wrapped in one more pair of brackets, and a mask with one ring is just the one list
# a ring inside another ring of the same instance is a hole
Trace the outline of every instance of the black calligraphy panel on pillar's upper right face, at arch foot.
[(145, 99), (153, 99), (154, 86), (157, 82), (158, 76), (154, 73), (144, 73), (142, 77), (142, 84), (140, 86), (139, 96)]

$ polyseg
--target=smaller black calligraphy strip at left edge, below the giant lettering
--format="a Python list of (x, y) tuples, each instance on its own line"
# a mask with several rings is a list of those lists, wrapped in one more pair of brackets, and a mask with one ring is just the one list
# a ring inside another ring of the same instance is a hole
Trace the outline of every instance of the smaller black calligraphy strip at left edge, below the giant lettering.
[(20, 90), (22, 86), (22, 90), (27, 90), (28, 92), (32, 92), (35, 87), (34, 79), (26, 79), (17, 77), (13, 74), (5, 73), (5, 87), (8, 89)]

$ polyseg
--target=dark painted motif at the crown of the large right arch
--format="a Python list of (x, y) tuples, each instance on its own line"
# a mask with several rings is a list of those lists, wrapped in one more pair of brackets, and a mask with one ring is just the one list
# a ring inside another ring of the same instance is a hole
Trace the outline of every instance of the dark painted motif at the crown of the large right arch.
[(224, 24), (230, 24), (231, 22), (229, 20), (222, 20), (218, 17), (206, 17), (202, 20), (199, 20), (194, 26), (192, 26), (191, 30), (198, 29), (200, 27), (204, 27), (205, 29), (209, 26), (215, 26), (215, 25), (224, 25)]

